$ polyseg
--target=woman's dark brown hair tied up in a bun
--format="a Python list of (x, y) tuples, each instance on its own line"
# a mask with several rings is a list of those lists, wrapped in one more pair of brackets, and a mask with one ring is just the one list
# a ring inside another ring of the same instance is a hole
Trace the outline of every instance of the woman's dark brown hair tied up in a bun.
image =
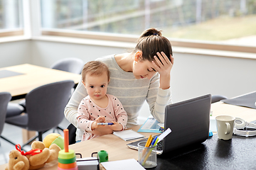
[(156, 52), (164, 52), (170, 61), (170, 56), (173, 56), (171, 42), (161, 35), (161, 30), (156, 30), (156, 28), (149, 28), (142, 33), (134, 52), (138, 50), (142, 51), (142, 59), (150, 62), (154, 61), (154, 56), (158, 57)]

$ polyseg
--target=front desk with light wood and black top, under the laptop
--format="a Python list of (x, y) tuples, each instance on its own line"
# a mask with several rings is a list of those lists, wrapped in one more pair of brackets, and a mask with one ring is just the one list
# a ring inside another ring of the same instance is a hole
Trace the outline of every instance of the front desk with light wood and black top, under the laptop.
[[(237, 108), (238, 107), (238, 108)], [(231, 106), (222, 102), (213, 103), (213, 115), (233, 115), (247, 121), (256, 120), (256, 110), (239, 106)], [(138, 130), (139, 126), (132, 129)], [(151, 133), (142, 133), (149, 137)], [(154, 133), (155, 134), (155, 133)], [(104, 135), (92, 140), (70, 145), (70, 149), (90, 157), (92, 152), (104, 149), (109, 154), (109, 160), (138, 159), (138, 152), (129, 149), (124, 140), (114, 135)], [(217, 134), (200, 145), (193, 145), (157, 157), (158, 165), (154, 169), (256, 169), (255, 164), (256, 137), (233, 136), (232, 140), (218, 140)], [(3, 169), (6, 165), (1, 165)], [(44, 167), (42, 170), (57, 169), (57, 164)]]

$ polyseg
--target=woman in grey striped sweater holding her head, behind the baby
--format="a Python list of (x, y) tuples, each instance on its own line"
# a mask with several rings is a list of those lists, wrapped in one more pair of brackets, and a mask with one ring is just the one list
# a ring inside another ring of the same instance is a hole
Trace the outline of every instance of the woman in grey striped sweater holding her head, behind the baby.
[[(149, 104), (151, 115), (164, 123), (165, 106), (171, 103), (170, 72), (174, 64), (171, 42), (161, 35), (161, 31), (145, 30), (132, 52), (109, 55), (97, 59), (110, 69), (110, 84), (107, 94), (119, 98), (128, 115), (127, 128), (139, 125), (137, 117), (144, 101)], [(78, 106), (87, 91), (78, 84), (65, 108), (65, 118), (77, 127)], [(82, 130), (77, 130), (76, 140), (81, 140)], [(100, 126), (92, 133), (106, 135), (112, 133), (107, 126)]]

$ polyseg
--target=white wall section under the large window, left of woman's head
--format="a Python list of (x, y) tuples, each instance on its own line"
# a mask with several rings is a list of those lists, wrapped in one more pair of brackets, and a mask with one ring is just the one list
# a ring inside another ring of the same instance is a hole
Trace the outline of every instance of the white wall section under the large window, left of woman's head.
[(81, 45), (66, 42), (49, 42), (33, 40), (31, 43), (33, 63), (43, 67), (50, 67), (53, 62), (67, 57), (78, 57), (84, 62), (95, 60), (105, 55), (125, 52), (124, 48), (103, 47), (95, 45)]

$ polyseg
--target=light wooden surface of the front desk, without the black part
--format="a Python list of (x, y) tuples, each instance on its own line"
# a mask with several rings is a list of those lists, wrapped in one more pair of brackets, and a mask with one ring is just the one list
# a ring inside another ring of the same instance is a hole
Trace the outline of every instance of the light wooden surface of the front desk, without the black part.
[[(256, 120), (256, 110), (251, 108), (245, 108), (240, 106), (228, 105), (222, 102), (213, 103), (211, 105), (211, 111), (213, 115), (233, 115), (235, 117), (242, 118), (246, 121)], [(134, 126), (133, 130), (139, 130), (139, 126)], [(150, 134), (156, 135), (156, 133), (142, 133), (146, 137)], [(114, 135), (104, 135), (102, 137), (96, 137), (92, 140), (80, 142), (78, 144), (70, 145), (70, 149), (74, 149), (76, 153), (82, 154), (82, 157), (91, 157), (92, 152), (98, 152), (100, 150), (106, 150), (109, 154), (109, 160), (121, 160), (121, 159), (138, 159), (138, 152), (134, 149), (129, 149), (127, 143), (124, 140), (119, 139)], [(57, 169), (57, 163), (54, 165), (45, 166), (43, 169), (53, 170)], [(4, 169), (4, 165), (0, 165), (0, 169)], [(42, 170), (43, 170), (42, 169)]]

